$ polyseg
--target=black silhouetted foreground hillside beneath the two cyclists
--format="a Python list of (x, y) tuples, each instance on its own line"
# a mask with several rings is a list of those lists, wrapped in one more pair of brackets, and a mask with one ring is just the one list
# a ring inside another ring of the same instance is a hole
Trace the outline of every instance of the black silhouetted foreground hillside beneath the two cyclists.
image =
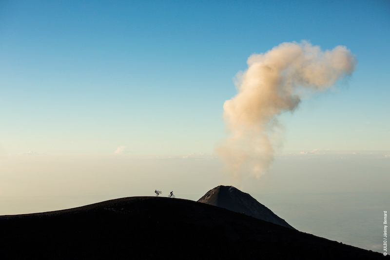
[(133, 197), (0, 216), (0, 259), (389, 259), (212, 205)]

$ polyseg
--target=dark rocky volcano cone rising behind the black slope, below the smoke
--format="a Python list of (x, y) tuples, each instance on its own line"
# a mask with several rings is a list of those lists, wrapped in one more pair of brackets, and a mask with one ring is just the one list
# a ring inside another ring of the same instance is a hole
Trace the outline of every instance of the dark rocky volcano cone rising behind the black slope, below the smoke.
[(208, 191), (198, 202), (244, 213), (259, 220), (294, 229), (285, 220), (279, 218), (269, 208), (233, 186), (218, 186)]

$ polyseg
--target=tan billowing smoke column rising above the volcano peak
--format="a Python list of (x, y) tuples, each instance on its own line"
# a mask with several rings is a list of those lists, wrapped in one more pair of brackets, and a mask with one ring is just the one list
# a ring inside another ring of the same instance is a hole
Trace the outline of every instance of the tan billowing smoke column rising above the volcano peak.
[(303, 93), (324, 91), (351, 75), (356, 59), (345, 46), (321, 51), (303, 41), (281, 43), (247, 63), (248, 69), (236, 76), (237, 95), (223, 105), (230, 135), (217, 148), (236, 181), (258, 179), (271, 166), (276, 117), (294, 111)]

